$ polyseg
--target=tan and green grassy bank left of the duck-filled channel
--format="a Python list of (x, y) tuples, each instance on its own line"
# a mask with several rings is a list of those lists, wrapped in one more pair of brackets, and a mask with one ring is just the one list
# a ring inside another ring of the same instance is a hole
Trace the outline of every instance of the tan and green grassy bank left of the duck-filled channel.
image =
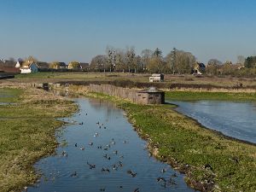
[(55, 151), (55, 129), (63, 125), (56, 118), (77, 107), (43, 90), (7, 90), (17, 104), (0, 105), (0, 191), (17, 191), (38, 178), (33, 164)]

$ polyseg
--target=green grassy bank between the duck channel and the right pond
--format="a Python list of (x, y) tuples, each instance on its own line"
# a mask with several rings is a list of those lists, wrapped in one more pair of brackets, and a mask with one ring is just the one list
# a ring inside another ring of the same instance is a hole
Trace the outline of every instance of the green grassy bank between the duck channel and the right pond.
[(186, 182), (201, 191), (255, 191), (256, 146), (210, 131), (172, 105), (144, 106), (112, 96), (84, 96), (115, 102), (127, 113), (157, 158), (186, 174)]

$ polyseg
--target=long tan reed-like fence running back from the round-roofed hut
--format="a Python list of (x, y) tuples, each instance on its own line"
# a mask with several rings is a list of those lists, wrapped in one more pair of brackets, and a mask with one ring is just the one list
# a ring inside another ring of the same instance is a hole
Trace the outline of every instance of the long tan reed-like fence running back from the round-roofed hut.
[(129, 99), (131, 102), (138, 102), (137, 91), (129, 88), (117, 87), (111, 84), (90, 84), (91, 92), (103, 93), (109, 96), (118, 96), (124, 99)]

